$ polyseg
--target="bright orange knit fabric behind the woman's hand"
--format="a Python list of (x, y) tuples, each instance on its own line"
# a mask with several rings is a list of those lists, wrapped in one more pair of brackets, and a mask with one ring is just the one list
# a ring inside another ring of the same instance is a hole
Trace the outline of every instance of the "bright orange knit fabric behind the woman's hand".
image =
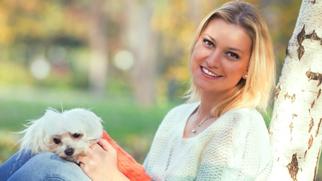
[(150, 181), (151, 177), (145, 172), (142, 165), (138, 164), (133, 157), (125, 152), (118, 144), (103, 131), (102, 139), (107, 140), (117, 151), (118, 170), (131, 181)]

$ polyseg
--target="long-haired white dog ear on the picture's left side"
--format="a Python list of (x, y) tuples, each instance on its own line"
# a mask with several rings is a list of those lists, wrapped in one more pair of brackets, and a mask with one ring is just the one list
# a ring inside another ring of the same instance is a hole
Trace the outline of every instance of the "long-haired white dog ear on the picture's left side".
[(26, 129), (18, 132), (24, 134), (23, 138), (18, 141), (20, 143), (19, 156), (23, 150), (25, 152), (31, 150), (33, 154), (49, 151), (50, 136), (46, 132), (52, 119), (55, 119), (59, 114), (61, 113), (54, 109), (47, 109), (43, 117), (31, 120), (25, 125)]

